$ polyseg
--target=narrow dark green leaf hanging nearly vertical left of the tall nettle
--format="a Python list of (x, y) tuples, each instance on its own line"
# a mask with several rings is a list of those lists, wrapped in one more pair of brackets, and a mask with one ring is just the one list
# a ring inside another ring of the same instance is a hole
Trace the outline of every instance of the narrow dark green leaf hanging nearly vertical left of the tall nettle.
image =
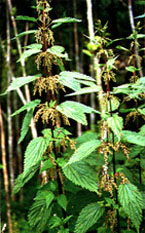
[(21, 127), (21, 134), (20, 134), (20, 139), (18, 141), (18, 144), (23, 141), (25, 138), (26, 134), (29, 131), (29, 125), (31, 123), (31, 119), (33, 117), (33, 109), (29, 110), (23, 120), (22, 127)]

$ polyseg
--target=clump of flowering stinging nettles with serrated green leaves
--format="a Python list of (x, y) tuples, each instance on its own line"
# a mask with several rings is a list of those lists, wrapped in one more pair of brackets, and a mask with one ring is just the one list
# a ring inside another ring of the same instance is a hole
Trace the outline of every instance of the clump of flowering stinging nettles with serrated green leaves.
[[(32, 139), (26, 148), (24, 170), (15, 182), (17, 193), (36, 172), (41, 174), (41, 186), (28, 213), (29, 224), (39, 233), (44, 230), (85, 233), (91, 228), (99, 233), (141, 232), (145, 208), (145, 125), (137, 126), (136, 131), (125, 130), (123, 115), (130, 114), (127, 120), (132, 116), (137, 119), (140, 115), (144, 118), (145, 115), (142, 104), (145, 78), (137, 76), (136, 58), (132, 56), (133, 65), (126, 68), (133, 73), (131, 80), (134, 82), (112, 88), (112, 82), (117, 81), (115, 63), (118, 55), (114, 55), (111, 46), (117, 40), (111, 41), (107, 24), (103, 27), (98, 21), (97, 36), (85, 53), (95, 54), (103, 62), (98, 64), (102, 86), (90, 76), (65, 71), (63, 60), (69, 60), (68, 54), (62, 46), (54, 45), (52, 28), (79, 20), (65, 17), (51, 21), (48, 0), (37, 1), (36, 8), (38, 19), (17, 17), (37, 21), (39, 25), (35, 30), (36, 43), (28, 45), (18, 61), (36, 54), (40, 74), (17, 78), (6, 91), (34, 82), (34, 97), (36, 94), (40, 96), (12, 114), (26, 111), (19, 143), (27, 135), (32, 118), (36, 126), (40, 121), (43, 123), (41, 136)], [(128, 39), (136, 43), (139, 35), (135, 31)], [(133, 46), (132, 42), (132, 51)], [(117, 49), (129, 52), (121, 45)], [(54, 66), (60, 73), (53, 73)], [(65, 87), (73, 92), (66, 95)], [(103, 107), (98, 111), (75, 101), (59, 103), (60, 92), (66, 97), (97, 93), (99, 105)], [(123, 102), (121, 98), (124, 98)], [(126, 100), (133, 100), (135, 107), (124, 108)], [(73, 140), (69, 131), (70, 119), (87, 125), (86, 113), (99, 115), (100, 130), (86, 132)]]

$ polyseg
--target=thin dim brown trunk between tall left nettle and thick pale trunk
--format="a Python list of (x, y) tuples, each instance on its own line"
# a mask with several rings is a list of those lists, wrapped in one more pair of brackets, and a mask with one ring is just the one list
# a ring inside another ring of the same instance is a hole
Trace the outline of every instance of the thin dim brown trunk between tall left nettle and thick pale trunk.
[[(74, 17), (77, 18), (77, 4), (76, 0), (73, 0), (74, 7)], [(76, 71), (80, 72), (80, 64), (79, 64), (79, 40), (78, 40), (78, 27), (77, 23), (74, 23), (74, 42), (75, 42), (75, 65)], [(81, 102), (81, 96), (77, 96), (77, 101)], [(77, 135), (81, 136), (82, 134), (82, 125), (77, 123)]]

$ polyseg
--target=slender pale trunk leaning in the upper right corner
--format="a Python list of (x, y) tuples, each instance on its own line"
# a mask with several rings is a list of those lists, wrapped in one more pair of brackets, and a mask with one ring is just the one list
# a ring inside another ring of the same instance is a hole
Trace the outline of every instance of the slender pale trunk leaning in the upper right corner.
[[(129, 11), (129, 20), (130, 20), (131, 30), (132, 30), (132, 32), (134, 32), (135, 31), (135, 23), (134, 23), (133, 9), (132, 9), (132, 0), (128, 0), (128, 11)], [(135, 39), (136, 63), (137, 63), (137, 67), (139, 69), (139, 75), (140, 75), (140, 77), (143, 77), (143, 72), (142, 72), (142, 69), (141, 69), (138, 50), (139, 50), (138, 40)]]

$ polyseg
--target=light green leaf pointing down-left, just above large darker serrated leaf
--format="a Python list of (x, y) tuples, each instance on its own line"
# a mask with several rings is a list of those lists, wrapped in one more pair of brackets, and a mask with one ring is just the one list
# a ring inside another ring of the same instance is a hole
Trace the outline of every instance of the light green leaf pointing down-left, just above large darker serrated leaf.
[[(71, 164), (87, 158), (92, 152), (94, 152), (101, 145), (100, 140), (91, 140), (83, 143), (71, 156), (67, 164)], [(66, 165), (67, 165), (66, 164)]]

